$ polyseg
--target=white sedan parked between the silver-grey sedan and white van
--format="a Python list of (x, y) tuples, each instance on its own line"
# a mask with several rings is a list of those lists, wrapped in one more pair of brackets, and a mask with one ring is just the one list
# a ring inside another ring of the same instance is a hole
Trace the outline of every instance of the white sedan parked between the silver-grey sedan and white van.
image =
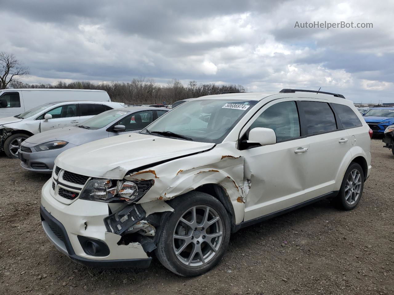
[(22, 141), (30, 136), (62, 127), (74, 126), (108, 111), (123, 107), (111, 101), (61, 101), (44, 103), (22, 114), (0, 119), (0, 151), (9, 158), (18, 157)]

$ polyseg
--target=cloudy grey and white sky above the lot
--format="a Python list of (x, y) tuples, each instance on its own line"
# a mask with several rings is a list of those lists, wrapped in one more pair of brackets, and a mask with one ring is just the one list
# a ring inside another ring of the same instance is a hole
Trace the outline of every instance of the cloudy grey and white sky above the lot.
[[(393, 1), (12, 0), (0, 17), (27, 83), (145, 76), (394, 102)], [(373, 28), (294, 28), (314, 21)]]

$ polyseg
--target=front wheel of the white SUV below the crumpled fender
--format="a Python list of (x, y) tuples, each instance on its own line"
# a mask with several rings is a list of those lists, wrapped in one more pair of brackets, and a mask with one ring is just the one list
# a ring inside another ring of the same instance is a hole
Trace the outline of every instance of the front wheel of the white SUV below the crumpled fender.
[[(168, 203), (174, 208), (174, 212), (160, 231), (155, 250), (158, 260), (180, 276), (193, 277), (206, 273), (221, 260), (229, 244), (230, 220), (226, 209), (212, 195), (195, 191)], [(204, 218), (206, 211), (208, 215)], [(194, 219), (193, 212), (196, 216)], [(215, 219), (217, 220), (214, 221)], [(215, 236), (210, 238), (210, 235)], [(195, 249), (200, 251), (194, 252)], [(175, 251), (179, 251), (178, 255)]]

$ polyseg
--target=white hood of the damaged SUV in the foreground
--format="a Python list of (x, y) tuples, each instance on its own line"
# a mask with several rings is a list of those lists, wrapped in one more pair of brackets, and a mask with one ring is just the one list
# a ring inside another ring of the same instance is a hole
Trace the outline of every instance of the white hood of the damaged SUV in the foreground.
[(130, 170), (213, 146), (213, 143), (131, 133), (68, 149), (56, 158), (55, 164), (86, 176), (123, 179)]

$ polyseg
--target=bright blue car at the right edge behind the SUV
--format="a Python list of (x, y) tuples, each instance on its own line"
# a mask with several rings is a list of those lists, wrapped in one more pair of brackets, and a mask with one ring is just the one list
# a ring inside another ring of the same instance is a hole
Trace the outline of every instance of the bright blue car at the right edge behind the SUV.
[(373, 107), (364, 119), (375, 135), (384, 135), (387, 126), (394, 124), (394, 107)]

